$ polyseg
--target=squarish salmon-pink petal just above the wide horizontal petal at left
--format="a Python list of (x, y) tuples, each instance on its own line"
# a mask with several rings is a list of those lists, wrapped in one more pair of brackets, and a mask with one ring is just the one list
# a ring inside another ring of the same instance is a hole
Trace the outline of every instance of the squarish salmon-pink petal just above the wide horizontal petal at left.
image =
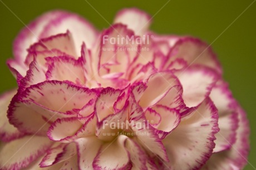
[(47, 58), (48, 70), (45, 74), (47, 80), (71, 81), (76, 84), (85, 84), (82, 61), (70, 57)]

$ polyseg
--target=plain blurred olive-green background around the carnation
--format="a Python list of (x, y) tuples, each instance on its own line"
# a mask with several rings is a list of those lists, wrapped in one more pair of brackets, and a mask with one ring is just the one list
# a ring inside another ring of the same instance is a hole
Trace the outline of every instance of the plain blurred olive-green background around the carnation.
[[(234, 97), (238, 99), (248, 113), (251, 126), (251, 149), (250, 164), (245, 169), (255, 169), (256, 2), (247, 9), (252, 2), (252, 0), (0, 0), (0, 92), (16, 87), (16, 82), (5, 63), (7, 58), (12, 57), (12, 42), (19, 30), (24, 27), (22, 22), (28, 24), (29, 21), (51, 9), (66, 9), (79, 13), (95, 24), (98, 29), (102, 29), (109, 27), (115, 13), (121, 8), (137, 7), (144, 9), (154, 16), (152, 31), (163, 34), (191, 35), (204, 39), (208, 43), (214, 42), (212, 46), (223, 65), (224, 78), (229, 82)], [(245, 9), (247, 10), (244, 11)], [(232, 25), (230, 26), (230, 24)], [(226, 31), (223, 32), (225, 29)]]

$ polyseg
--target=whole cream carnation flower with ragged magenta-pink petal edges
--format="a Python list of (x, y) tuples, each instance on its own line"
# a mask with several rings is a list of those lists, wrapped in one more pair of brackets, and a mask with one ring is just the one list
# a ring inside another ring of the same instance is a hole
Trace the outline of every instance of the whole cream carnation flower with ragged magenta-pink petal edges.
[(242, 169), (249, 127), (200, 39), (123, 9), (97, 31), (52, 11), (24, 28), (0, 99), (0, 169)]

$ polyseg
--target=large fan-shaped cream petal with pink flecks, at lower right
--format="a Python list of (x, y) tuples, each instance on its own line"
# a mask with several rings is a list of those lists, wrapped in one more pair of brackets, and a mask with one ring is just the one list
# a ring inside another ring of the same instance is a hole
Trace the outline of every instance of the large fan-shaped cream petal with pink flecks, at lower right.
[(218, 131), (218, 111), (206, 98), (163, 140), (170, 160), (163, 163), (163, 168), (199, 169), (210, 158)]

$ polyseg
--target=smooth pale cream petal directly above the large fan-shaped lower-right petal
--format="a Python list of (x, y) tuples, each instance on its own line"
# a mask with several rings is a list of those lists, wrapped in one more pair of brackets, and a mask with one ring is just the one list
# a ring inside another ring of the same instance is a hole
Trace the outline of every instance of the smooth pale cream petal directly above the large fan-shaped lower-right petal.
[(201, 66), (188, 67), (175, 72), (175, 75), (183, 87), (183, 100), (187, 107), (203, 102), (219, 79), (219, 74), (213, 69)]

